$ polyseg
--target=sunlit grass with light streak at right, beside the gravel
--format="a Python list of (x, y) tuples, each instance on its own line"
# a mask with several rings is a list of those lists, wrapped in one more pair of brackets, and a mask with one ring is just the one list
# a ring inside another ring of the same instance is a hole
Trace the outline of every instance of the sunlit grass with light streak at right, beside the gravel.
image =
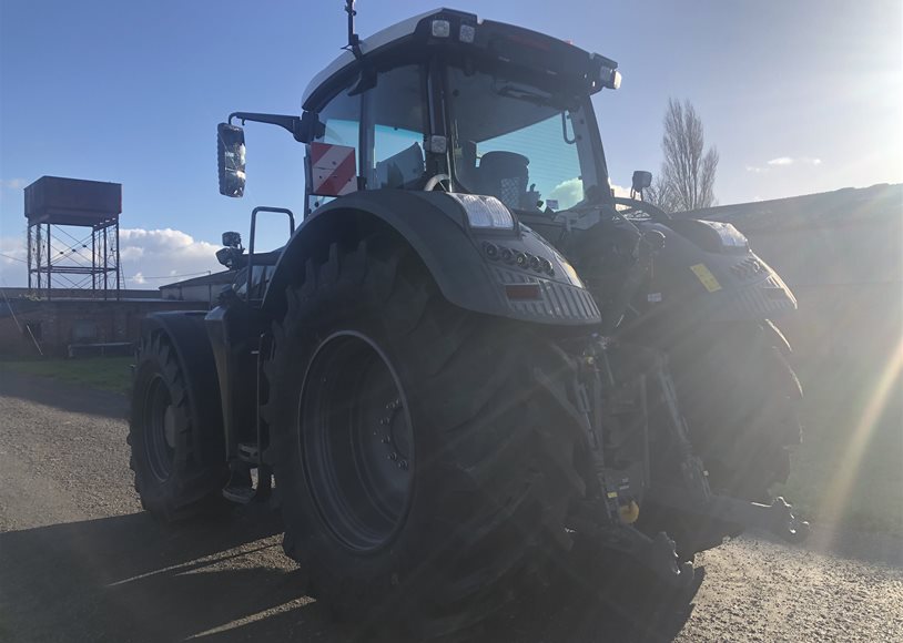
[(778, 491), (812, 521), (903, 537), (903, 382), (870, 422), (874, 369), (813, 365), (801, 379), (804, 441)]

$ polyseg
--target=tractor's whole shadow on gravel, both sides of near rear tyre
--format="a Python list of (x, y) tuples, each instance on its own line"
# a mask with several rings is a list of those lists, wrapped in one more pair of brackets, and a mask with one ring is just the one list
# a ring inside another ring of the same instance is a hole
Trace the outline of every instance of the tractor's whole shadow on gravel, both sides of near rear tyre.
[[(365, 640), (305, 596), (281, 530), (272, 511), (251, 507), (233, 520), (179, 528), (135, 513), (2, 533), (0, 640)], [(547, 591), (496, 615), (478, 639), (669, 641), (692, 609), (646, 604)]]

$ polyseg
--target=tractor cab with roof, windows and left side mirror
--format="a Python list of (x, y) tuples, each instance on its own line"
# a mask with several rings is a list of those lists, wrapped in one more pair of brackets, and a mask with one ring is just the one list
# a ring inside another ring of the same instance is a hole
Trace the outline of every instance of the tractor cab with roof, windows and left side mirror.
[(305, 217), (358, 191), (494, 196), (554, 213), (609, 195), (590, 95), (617, 63), (519, 27), (439, 9), (357, 40), (313, 79), (301, 118), (220, 125), (220, 185), (244, 190), (244, 134), (278, 124), (306, 144)]

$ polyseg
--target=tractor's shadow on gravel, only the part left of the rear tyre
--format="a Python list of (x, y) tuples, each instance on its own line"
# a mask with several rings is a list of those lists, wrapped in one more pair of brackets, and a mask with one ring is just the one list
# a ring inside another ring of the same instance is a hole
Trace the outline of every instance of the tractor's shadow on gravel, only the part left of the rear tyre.
[[(278, 567), (278, 531), (275, 514), (253, 508), (237, 520), (174, 529), (135, 513), (2, 533), (7, 634), (16, 641), (182, 641), (298, 601), (305, 583), (300, 572)], [(302, 612), (316, 611), (307, 603)], [(295, 620), (308, 622), (306, 614)], [(305, 637), (303, 629), (297, 634)]]

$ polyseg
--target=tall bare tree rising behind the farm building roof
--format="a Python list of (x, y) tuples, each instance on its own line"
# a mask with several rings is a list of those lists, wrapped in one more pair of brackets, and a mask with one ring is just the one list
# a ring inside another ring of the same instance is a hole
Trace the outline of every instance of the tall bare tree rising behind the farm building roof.
[(668, 99), (661, 172), (647, 191), (647, 198), (667, 212), (699, 210), (714, 204), (718, 150), (704, 151), (702, 120), (690, 101)]

